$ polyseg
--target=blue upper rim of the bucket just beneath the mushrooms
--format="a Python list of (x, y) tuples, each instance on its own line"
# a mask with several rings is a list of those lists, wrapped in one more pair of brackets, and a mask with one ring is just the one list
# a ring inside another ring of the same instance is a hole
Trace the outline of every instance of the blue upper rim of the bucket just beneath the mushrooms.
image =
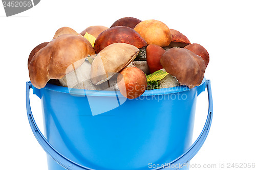
[[(202, 86), (205, 83), (205, 77), (203, 78), (201, 84), (199, 86)], [(199, 86), (196, 86), (191, 89), (195, 89)], [(90, 96), (123, 96), (119, 90), (85, 90), (85, 89), (76, 89), (76, 88), (69, 88), (69, 87), (63, 87), (58, 86), (54, 84), (47, 83), (44, 89), (52, 90), (56, 92), (61, 93), (69, 93), (72, 95), (90, 95)], [(169, 87), (169, 88), (160, 88), (160, 89), (154, 89), (154, 90), (145, 90), (145, 92), (141, 96), (150, 96), (150, 95), (163, 95), (163, 94), (170, 94), (170, 93), (177, 93), (177, 92), (183, 92), (191, 90), (185, 85), (180, 85), (176, 87)], [(124, 96), (123, 96), (124, 97)]]

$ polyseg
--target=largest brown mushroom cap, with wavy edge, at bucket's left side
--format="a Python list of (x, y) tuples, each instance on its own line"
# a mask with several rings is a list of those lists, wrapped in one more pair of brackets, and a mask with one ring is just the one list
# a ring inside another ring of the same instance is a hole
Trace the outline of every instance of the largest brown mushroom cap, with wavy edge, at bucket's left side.
[[(93, 47), (86, 38), (74, 34), (61, 35), (41, 48), (32, 58), (29, 64), (31, 83), (36, 88), (43, 88), (50, 79), (62, 78), (79, 67), (83, 58), (94, 54)], [(71, 64), (73, 67), (69, 67)]]

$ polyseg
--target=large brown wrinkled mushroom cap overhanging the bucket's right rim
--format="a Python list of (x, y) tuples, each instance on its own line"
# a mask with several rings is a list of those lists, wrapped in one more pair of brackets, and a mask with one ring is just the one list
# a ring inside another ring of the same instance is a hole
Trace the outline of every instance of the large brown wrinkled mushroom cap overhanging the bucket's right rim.
[(160, 60), (163, 68), (176, 77), (181, 85), (194, 88), (201, 84), (204, 78), (204, 60), (184, 48), (170, 48)]

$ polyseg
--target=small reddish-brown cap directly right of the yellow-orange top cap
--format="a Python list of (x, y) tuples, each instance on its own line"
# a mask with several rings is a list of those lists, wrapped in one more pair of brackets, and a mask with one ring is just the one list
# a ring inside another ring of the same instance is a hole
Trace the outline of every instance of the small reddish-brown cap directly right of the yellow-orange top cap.
[(190, 41), (187, 39), (185, 35), (180, 33), (177, 30), (170, 29), (170, 33), (172, 34), (172, 39), (170, 40), (169, 47), (181, 47), (190, 44)]

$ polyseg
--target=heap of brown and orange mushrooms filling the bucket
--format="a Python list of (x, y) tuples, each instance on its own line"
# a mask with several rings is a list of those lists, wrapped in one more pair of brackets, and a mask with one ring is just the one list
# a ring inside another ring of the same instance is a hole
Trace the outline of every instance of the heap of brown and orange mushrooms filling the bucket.
[(32, 50), (28, 69), (36, 88), (56, 79), (61, 86), (120, 90), (126, 98), (135, 99), (144, 93), (147, 77), (156, 71), (166, 71), (160, 83), (173, 82), (159, 88), (194, 88), (202, 82), (208, 63), (209, 54), (202, 45), (191, 44), (165, 23), (125, 17), (110, 28), (91, 26), (80, 34), (60, 28), (52, 41)]

